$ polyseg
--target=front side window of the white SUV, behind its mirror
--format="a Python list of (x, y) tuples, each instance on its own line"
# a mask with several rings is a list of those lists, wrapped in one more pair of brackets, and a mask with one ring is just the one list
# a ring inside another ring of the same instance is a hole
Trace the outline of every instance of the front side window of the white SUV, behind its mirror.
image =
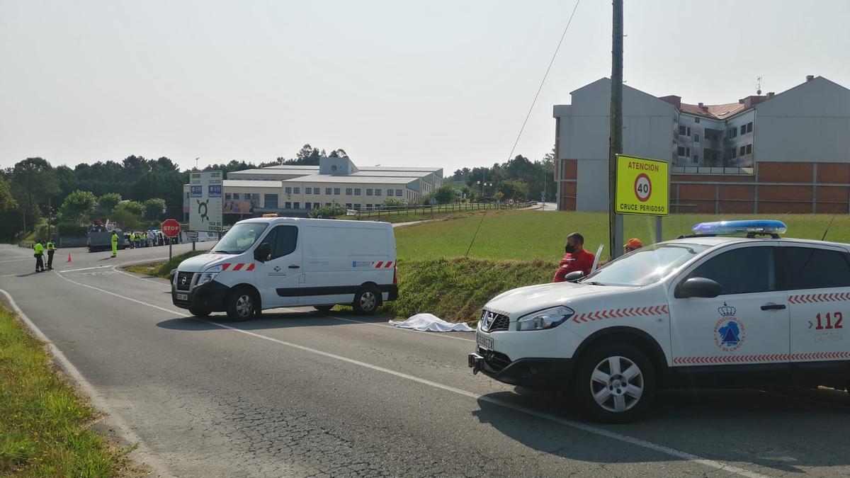
[(758, 246), (721, 253), (702, 263), (690, 277), (706, 277), (717, 282), (721, 295), (776, 290), (774, 248)]

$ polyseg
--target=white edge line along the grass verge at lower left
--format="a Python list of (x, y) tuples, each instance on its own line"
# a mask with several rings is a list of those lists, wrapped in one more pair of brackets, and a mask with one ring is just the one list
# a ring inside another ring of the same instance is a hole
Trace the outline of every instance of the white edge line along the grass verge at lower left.
[[(29, 317), (26, 316), (24, 311), (20, 310), (20, 307), (18, 307), (18, 304), (15, 304), (14, 299), (12, 299), (12, 296), (3, 289), (0, 289), (0, 293), (6, 296), (9, 306), (11, 306), (12, 310), (14, 310), (14, 313), (20, 317), (20, 320), (26, 324), (26, 327), (28, 327), (38, 339), (44, 342), (45, 346), (48, 348), (48, 353), (50, 354), (50, 356), (53, 356), (54, 360), (59, 362), (59, 366), (62, 367), (65, 373), (67, 373), (75, 382), (75, 384), (77, 385), (77, 390), (80, 390), (82, 394), (87, 395), (88, 399), (92, 402), (92, 404), (94, 404), (94, 407), (97, 408), (100, 412), (109, 415), (108, 421), (111, 425), (115, 427), (117, 435), (122, 436), (124, 441), (127, 441), (127, 443), (135, 445), (136, 449), (141, 454), (141, 456), (139, 457), (141, 459), (138, 460), (139, 463), (148, 466), (156, 473), (156, 475), (173, 476), (172, 474), (168, 473), (165, 464), (162, 464), (159, 458), (156, 458), (156, 455), (151, 452), (150, 448), (144, 444), (144, 441), (142, 441), (139, 435), (136, 435), (136, 432), (133, 431), (133, 428), (131, 428), (130, 425), (127, 424), (126, 421), (124, 421), (121, 415), (116, 413), (115, 410), (110, 407), (106, 399), (98, 393), (97, 389), (94, 388), (94, 385), (91, 384), (82, 375), (82, 373), (80, 373), (77, 367), (74, 367), (74, 364), (72, 364), (71, 361), (69, 361), (68, 358), (65, 357), (65, 354), (63, 354), (62, 351), (59, 350), (59, 348), (56, 347), (56, 345), (54, 345), (54, 343), (51, 342), (50, 339), (48, 339), (48, 337), (44, 335), (44, 333), (42, 333), (41, 329), (38, 328), (36, 324), (32, 323), (32, 321)], [(131, 454), (132, 453), (133, 452), (131, 452)]]

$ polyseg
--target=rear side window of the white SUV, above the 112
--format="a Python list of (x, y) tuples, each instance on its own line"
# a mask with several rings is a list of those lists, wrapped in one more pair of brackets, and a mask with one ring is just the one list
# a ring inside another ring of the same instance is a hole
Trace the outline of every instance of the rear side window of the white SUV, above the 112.
[(816, 248), (779, 248), (783, 288), (850, 287), (850, 255)]

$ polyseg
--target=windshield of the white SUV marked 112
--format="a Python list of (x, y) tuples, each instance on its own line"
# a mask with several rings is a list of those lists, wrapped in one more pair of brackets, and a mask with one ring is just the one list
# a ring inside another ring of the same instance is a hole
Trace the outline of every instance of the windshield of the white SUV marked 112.
[(707, 248), (699, 244), (657, 244), (640, 248), (609, 262), (581, 279), (581, 282), (606, 286), (646, 286), (660, 281)]

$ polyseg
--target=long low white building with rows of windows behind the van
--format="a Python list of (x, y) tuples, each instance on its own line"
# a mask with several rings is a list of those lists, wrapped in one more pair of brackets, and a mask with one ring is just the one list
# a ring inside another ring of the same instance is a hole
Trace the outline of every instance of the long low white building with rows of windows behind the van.
[[(387, 199), (419, 202), (443, 183), (442, 168), (358, 168), (348, 157), (321, 157), (319, 166), (271, 166), (227, 174), (224, 213), (306, 215), (331, 204), (377, 208)], [(184, 185), (184, 214), (189, 185)]]

